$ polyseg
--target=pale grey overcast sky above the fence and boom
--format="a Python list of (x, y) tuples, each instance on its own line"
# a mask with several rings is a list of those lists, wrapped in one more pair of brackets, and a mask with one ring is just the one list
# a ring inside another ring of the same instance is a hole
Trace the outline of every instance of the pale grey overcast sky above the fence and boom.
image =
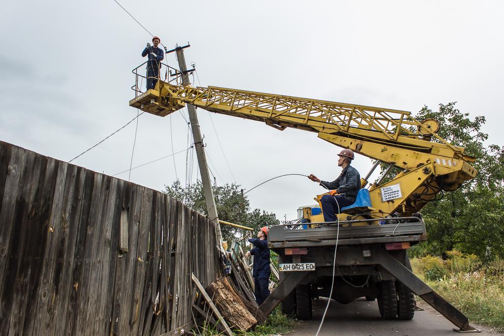
[[(195, 85), (413, 113), (457, 101), (472, 117), (486, 117), (489, 144), (504, 143), (504, 2), (119, 3), (168, 48), (191, 43), (185, 58), (196, 63)], [(151, 37), (113, 0), (11, 1), (2, 5), (0, 28), (0, 140), (69, 161), (137, 115), (128, 105), (131, 70), (145, 60), (140, 53)], [(177, 65), (173, 53), (165, 60)], [(133, 167), (170, 155), (172, 146), (187, 148), (182, 114), (139, 117)], [(281, 174), (339, 175), (341, 149), (316, 133), (201, 109), (198, 116), (217, 184), (250, 189)], [(109, 175), (129, 169), (135, 127), (73, 163)], [(191, 152), (174, 158), (133, 170), (131, 181), (162, 190), (176, 176), (185, 184), (192, 171), (194, 182), (196, 153), (193, 169), (186, 169)], [(365, 175), (371, 163), (357, 156), (354, 166)], [(321, 192), (307, 178), (288, 176), (248, 196), (251, 207), (289, 220)]]

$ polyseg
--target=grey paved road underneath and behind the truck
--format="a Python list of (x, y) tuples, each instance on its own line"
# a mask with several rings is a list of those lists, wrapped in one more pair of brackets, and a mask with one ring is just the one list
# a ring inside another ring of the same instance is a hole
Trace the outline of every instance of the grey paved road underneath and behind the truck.
[[(296, 330), (290, 332), (289, 336), (314, 336), (319, 327), (326, 304), (327, 299), (325, 298), (313, 301), (313, 319), (310, 321), (300, 321)], [(426, 304), (419, 305), (425, 310), (416, 311), (415, 317), (410, 321), (384, 320), (380, 317), (376, 301), (371, 302), (358, 299), (350, 304), (343, 305), (331, 300), (319, 335), (460, 335), (460, 333), (453, 331), (455, 325), (443, 316), (440, 316), (430, 306)], [(476, 327), (481, 328), (482, 331), (474, 333), (475, 336), (502, 335), (493, 332), (488, 327)]]

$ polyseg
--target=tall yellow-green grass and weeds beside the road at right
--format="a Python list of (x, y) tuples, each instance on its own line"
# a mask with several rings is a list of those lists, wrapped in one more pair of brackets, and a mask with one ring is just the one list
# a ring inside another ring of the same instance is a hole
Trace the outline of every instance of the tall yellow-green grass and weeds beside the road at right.
[(504, 260), (483, 265), (472, 254), (447, 255), (414, 258), (413, 272), (471, 321), (504, 330)]

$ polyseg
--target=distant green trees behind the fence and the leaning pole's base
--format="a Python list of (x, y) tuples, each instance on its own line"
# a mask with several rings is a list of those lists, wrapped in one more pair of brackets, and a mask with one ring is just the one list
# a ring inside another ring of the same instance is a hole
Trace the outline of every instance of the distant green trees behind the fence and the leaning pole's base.
[[(243, 195), (238, 184), (224, 184), (213, 186), (217, 214), (219, 219), (254, 228), (254, 235), (265, 225), (273, 226), (280, 224), (274, 213), (260, 209), (250, 210), (248, 197)], [(203, 184), (197, 181), (194, 184), (182, 186), (179, 180), (173, 182), (170, 186), (165, 186), (165, 193), (178, 199), (187, 207), (208, 216), (205, 195), (203, 193)], [(228, 225), (221, 225), (222, 236), (225, 240), (236, 239), (249, 234), (248, 230), (238, 229)]]

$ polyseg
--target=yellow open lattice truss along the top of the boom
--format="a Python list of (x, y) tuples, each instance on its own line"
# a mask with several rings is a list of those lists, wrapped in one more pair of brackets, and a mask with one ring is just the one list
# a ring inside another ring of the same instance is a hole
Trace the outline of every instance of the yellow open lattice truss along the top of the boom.
[(267, 117), (271, 119), (288, 116), (291, 122), (292, 117), (295, 117), (297, 122), (303, 124), (323, 122), (325, 127), (330, 126), (345, 132), (352, 132), (352, 128), (374, 130), (384, 133), (391, 140), (397, 140), (399, 135), (418, 137), (416, 127), (411, 126), (421, 127), (421, 123), (407, 111), (218, 87), (173, 88), (178, 91), (178, 96), (185, 97), (187, 102), (198, 100), (209, 107), (229, 107), (226, 108), (229, 111), (248, 109), (267, 112)]

